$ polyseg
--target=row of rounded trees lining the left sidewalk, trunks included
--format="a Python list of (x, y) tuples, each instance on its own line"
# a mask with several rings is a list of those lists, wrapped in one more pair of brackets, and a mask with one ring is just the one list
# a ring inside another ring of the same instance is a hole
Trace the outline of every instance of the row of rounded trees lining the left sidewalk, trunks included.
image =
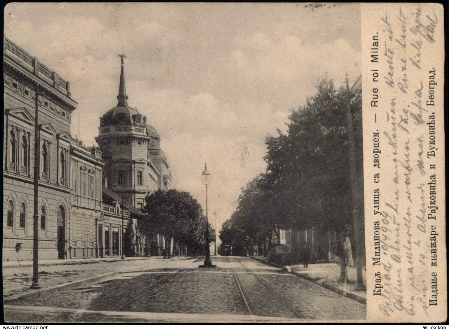
[[(146, 197), (144, 212), (145, 215), (137, 220), (137, 233), (134, 233), (132, 223), (125, 231), (126, 256), (136, 255), (139, 242), (145, 244), (145, 256), (204, 255), (206, 217), (201, 205), (188, 192), (176, 189), (155, 191)], [(214, 242), (215, 230), (210, 224), (208, 226), (209, 242)]]

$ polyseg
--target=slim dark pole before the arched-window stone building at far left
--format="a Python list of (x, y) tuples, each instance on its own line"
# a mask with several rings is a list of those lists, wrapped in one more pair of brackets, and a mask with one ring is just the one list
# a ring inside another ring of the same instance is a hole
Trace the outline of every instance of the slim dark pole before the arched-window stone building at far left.
[(31, 289), (40, 289), (39, 284), (39, 96), (43, 94), (36, 87), (34, 116), (34, 213), (33, 213), (33, 283)]

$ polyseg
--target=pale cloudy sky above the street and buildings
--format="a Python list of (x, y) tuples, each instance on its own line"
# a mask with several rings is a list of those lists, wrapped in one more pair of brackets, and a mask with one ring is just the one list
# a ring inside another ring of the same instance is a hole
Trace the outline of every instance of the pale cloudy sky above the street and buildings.
[(71, 83), (85, 145), (117, 103), (125, 53), (128, 104), (158, 131), (172, 187), (204, 206), (207, 162), (219, 228), (264, 171), (265, 136), (286, 131), (317, 78), (360, 74), (357, 4), (13, 3), (4, 15), (4, 34)]

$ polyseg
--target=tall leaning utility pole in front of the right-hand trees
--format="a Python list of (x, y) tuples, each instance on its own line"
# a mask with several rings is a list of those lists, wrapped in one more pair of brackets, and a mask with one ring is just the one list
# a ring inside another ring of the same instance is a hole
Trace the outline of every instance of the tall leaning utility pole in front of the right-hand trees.
[(356, 254), (356, 269), (357, 269), (357, 284), (355, 287), (356, 291), (365, 291), (366, 288), (363, 285), (362, 261), (365, 259), (363, 256), (363, 247), (361, 242), (361, 221), (359, 213), (359, 203), (358, 203), (358, 177), (356, 168), (356, 152), (354, 147), (354, 128), (352, 125), (352, 113), (351, 113), (351, 92), (349, 90), (349, 78), (348, 73), (346, 73), (346, 95), (347, 95), (347, 117), (348, 117), (348, 142), (349, 142), (349, 162), (351, 165), (351, 193), (352, 193), (352, 220), (354, 223), (354, 243), (355, 243), (355, 254)]

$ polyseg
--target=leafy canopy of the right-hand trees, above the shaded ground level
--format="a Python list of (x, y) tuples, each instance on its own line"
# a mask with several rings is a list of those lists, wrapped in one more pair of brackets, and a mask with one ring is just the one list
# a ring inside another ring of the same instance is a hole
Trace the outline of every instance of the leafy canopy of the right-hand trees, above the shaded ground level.
[[(361, 92), (351, 91), (349, 99), (361, 195)], [(242, 191), (237, 210), (220, 232), (223, 242), (242, 235), (262, 240), (257, 233), (267, 237), (277, 228), (335, 230), (339, 233), (335, 252), (345, 274), (343, 241), (353, 234), (347, 105), (347, 91), (323, 79), (317, 84), (316, 95), (291, 110), (287, 133), (277, 130), (278, 136), (266, 138), (267, 171)], [(359, 198), (360, 214), (362, 201)]]

